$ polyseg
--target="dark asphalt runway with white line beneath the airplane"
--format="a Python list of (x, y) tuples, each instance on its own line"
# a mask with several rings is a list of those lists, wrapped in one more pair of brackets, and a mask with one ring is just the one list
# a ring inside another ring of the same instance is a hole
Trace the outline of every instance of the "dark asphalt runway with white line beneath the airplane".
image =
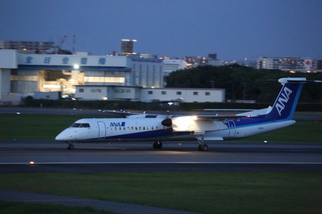
[[(67, 150), (55, 141), (0, 143), (0, 173), (105, 171), (322, 171), (322, 145), (225, 142), (84, 143)], [(30, 162), (34, 162), (31, 164)]]

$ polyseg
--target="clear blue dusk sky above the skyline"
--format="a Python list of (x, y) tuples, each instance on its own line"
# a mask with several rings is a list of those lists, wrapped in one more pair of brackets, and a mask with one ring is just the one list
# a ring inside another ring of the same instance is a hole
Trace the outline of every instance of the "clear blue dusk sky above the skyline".
[(240, 60), (268, 57), (322, 59), (322, 1), (99, 1), (0, 0), (0, 40), (53, 41), (63, 49)]

